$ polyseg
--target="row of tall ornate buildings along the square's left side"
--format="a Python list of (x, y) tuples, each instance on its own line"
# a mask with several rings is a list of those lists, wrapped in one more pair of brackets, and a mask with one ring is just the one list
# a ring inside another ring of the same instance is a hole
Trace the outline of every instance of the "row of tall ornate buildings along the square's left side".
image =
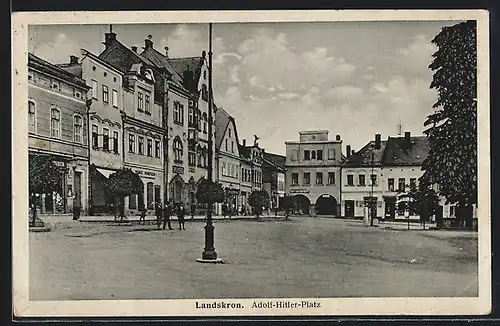
[[(62, 169), (63, 189), (40, 194), (45, 212), (107, 214), (115, 202), (104, 181), (130, 168), (144, 182), (144, 193), (123, 203), (127, 214), (154, 203), (183, 203), (200, 213), (198, 182), (207, 177), (208, 139), (213, 144), (213, 176), (226, 191), (226, 206), (246, 213), (248, 196), (266, 189), (273, 207), (284, 196), (285, 157), (265, 153), (254, 141), (238, 138), (234, 118), (209, 107), (208, 58), (170, 58), (154, 48), (152, 36), (141, 51), (117, 35), (105, 34), (99, 55), (82, 50), (67, 63), (28, 55), (29, 155), (49, 155)], [(212, 102), (213, 103), (213, 102)], [(212, 121), (209, 121), (212, 110)], [(208, 135), (208, 124), (213, 135)], [(222, 205), (217, 205), (221, 213)]]

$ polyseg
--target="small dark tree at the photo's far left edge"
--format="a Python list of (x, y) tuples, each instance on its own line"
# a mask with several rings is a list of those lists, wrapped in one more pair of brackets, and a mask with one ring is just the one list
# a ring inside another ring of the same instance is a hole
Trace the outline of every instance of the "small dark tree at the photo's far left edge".
[(45, 155), (30, 155), (29, 193), (31, 207), (31, 225), (37, 221), (36, 194), (57, 192), (62, 195), (63, 170), (54, 164), (54, 158)]

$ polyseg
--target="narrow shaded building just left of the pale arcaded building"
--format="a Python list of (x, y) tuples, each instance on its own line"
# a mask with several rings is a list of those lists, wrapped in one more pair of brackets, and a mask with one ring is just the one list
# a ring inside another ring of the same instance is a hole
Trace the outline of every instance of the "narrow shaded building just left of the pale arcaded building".
[(282, 207), (285, 196), (286, 156), (264, 152), (262, 161), (262, 184), (271, 197), (271, 209)]

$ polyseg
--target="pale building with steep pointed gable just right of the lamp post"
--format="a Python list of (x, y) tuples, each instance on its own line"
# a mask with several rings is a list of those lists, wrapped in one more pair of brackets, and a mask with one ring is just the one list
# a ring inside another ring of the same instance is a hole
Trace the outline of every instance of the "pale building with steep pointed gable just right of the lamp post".
[[(240, 202), (240, 153), (236, 122), (223, 108), (215, 116), (216, 175), (225, 191), (225, 204), (231, 214), (241, 211)], [(221, 204), (217, 213), (221, 211)]]

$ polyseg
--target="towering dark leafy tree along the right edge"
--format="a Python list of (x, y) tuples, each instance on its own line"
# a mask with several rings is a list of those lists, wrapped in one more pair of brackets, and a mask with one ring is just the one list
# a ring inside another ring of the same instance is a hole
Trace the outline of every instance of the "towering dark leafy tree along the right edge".
[(476, 22), (445, 27), (432, 43), (438, 50), (429, 65), (434, 71), (430, 88), (437, 90), (438, 99), (424, 123), (430, 149), (420, 182), (437, 184), (446, 203), (469, 212), (465, 220), (472, 228), (472, 205), (477, 203)]

